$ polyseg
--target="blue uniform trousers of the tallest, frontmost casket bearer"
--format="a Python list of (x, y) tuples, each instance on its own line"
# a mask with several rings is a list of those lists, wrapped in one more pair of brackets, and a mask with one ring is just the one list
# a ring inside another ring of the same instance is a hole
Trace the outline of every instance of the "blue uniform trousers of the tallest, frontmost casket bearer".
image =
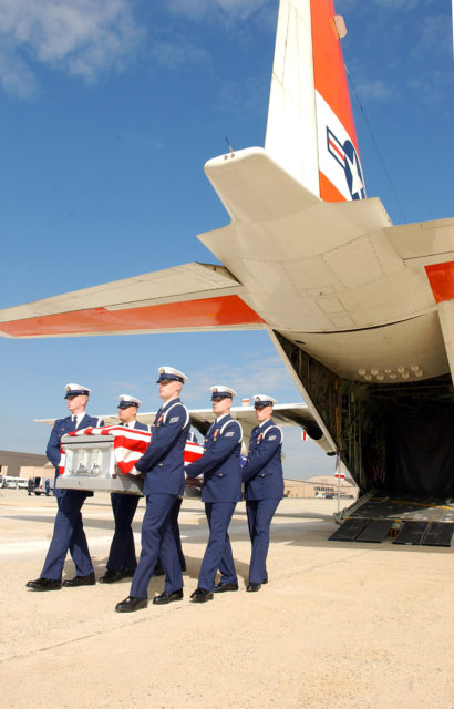
[(141, 558), (130, 593), (135, 598), (147, 597), (149, 579), (158, 557), (165, 572), (164, 590), (172, 594), (183, 588), (182, 568), (172, 526), (172, 511), (176, 499), (176, 495), (164, 493), (152, 493), (146, 496)]

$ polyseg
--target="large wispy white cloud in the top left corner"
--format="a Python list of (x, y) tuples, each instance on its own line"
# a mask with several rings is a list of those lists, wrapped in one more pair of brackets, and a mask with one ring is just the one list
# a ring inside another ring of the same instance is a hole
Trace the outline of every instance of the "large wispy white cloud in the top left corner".
[(127, 0), (0, 0), (0, 81), (33, 94), (38, 63), (93, 83), (123, 69), (142, 38)]

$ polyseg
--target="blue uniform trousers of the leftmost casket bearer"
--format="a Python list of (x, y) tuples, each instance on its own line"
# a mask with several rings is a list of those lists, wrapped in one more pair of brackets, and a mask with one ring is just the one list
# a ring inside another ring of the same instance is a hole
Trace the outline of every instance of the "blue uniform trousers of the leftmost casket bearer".
[(87, 497), (86, 492), (65, 490), (61, 497), (56, 497), (59, 511), (53, 527), (53, 536), (41, 572), (43, 578), (60, 580), (63, 572), (68, 549), (75, 564), (78, 576), (93, 573), (89, 545), (83, 531), (81, 508)]

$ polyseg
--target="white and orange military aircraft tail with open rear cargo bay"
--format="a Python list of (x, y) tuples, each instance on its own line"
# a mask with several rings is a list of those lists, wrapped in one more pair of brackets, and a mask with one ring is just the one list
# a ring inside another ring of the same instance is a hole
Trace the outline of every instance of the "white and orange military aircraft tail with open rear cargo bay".
[(266, 330), (362, 490), (454, 494), (454, 219), (393, 226), (367, 197), (345, 31), (332, 0), (280, 1), (265, 148), (205, 165), (221, 265), (7, 308), (0, 333)]

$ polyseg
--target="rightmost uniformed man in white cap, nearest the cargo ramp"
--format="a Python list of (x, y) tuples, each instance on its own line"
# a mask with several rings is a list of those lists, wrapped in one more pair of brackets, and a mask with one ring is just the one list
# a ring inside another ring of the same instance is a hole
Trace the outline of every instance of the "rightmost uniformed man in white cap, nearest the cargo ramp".
[(246, 590), (259, 590), (268, 583), (267, 554), (269, 527), (272, 516), (283, 497), (282, 431), (271, 419), (276, 399), (265, 394), (254, 398), (259, 424), (252, 429), (249, 454), (243, 467), (246, 512), (252, 552), (249, 564), (249, 582)]

